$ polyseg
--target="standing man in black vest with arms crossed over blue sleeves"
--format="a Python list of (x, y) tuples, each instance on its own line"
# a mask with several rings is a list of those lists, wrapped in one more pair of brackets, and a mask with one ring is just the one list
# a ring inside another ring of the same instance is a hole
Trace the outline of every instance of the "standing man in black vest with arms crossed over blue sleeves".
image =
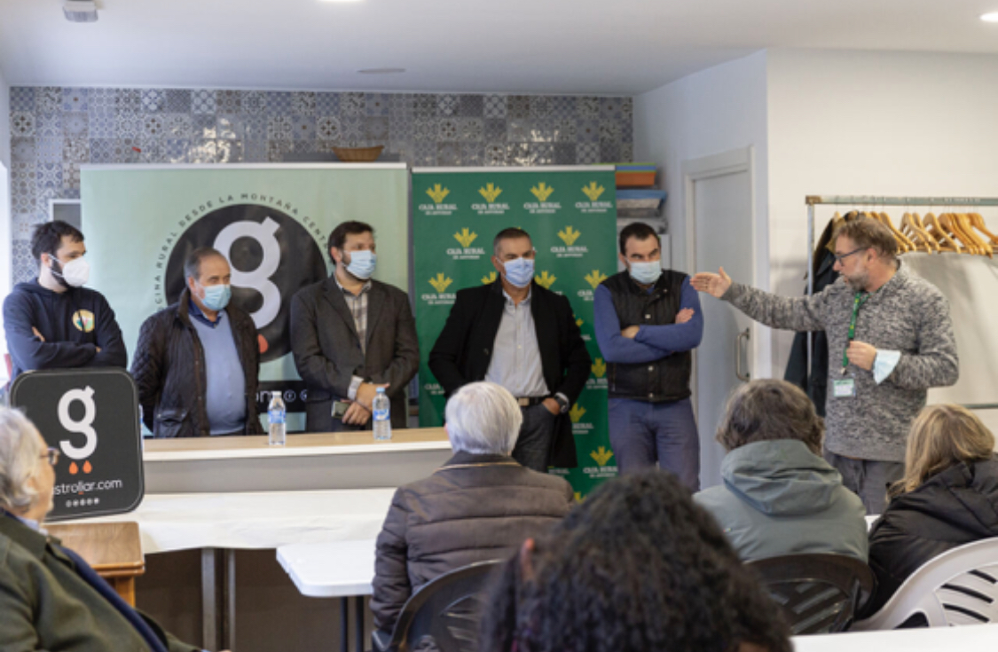
[(691, 351), (704, 318), (690, 277), (663, 270), (655, 230), (620, 234), (626, 272), (596, 289), (596, 339), (608, 362), (610, 443), (621, 473), (659, 467), (697, 491), (700, 435), (690, 402)]

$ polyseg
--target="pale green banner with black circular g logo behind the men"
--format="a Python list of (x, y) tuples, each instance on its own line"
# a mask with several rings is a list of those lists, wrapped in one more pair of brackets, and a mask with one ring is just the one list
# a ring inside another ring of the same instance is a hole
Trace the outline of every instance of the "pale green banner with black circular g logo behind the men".
[(214, 247), (232, 265), (234, 305), (259, 332), (260, 387), (281, 391), (289, 410), (301, 409), (303, 390), (290, 301), (331, 271), (333, 227), (374, 227), (374, 278), (408, 288), (404, 164), (84, 166), (81, 196), (90, 285), (114, 308), (130, 356), (142, 323), (184, 290), (184, 259)]

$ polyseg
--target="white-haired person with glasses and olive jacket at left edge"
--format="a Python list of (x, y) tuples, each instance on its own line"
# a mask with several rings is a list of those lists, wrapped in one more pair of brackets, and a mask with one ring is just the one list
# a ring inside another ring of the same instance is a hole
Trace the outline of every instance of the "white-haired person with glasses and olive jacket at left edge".
[(42, 529), (58, 459), (24, 414), (0, 408), (0, 649), (197, 650), (129, 606)]

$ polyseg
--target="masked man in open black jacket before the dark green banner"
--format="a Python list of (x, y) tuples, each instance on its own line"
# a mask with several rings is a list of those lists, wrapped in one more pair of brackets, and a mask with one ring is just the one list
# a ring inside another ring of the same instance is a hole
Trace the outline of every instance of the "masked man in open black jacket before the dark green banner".
[(574, 467), (567, 412), (589, 378), (586, 343), (568, 300), (534, 283), (537, 252), (527, 232), (499, 232), (493, 253), (500, 280), (457, 293), (430, 370), (448, 396), (475, 380), (508, 389), (523, 411), (513, 457), (536, 471)]

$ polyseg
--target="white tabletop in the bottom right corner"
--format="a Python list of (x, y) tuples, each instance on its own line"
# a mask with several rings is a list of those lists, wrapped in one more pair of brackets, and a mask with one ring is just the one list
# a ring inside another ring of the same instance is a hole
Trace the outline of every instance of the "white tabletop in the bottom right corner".
[(994, 652), (998, 625), (794, 636), (795, 652)]

